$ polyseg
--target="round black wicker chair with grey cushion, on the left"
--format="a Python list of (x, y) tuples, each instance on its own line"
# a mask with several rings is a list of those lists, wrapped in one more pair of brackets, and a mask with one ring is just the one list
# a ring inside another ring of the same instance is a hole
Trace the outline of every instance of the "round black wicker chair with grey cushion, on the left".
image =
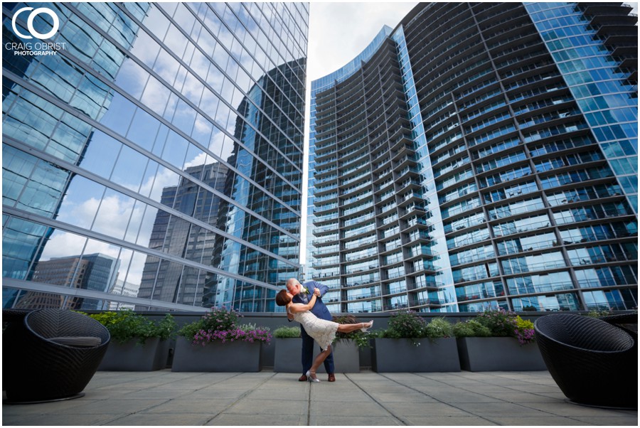
[(3, 389), (6, 404), (82, 397), (110, 341), (107, 328), (60, 309), (3, 311)]

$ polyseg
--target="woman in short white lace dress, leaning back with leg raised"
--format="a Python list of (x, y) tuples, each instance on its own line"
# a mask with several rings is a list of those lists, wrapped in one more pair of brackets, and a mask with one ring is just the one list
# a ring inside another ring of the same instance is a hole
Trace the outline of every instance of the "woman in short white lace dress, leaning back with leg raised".
[(311, 368), (306, 372), (306, 378), (309, 382), (320, 382), (316, 378), (316, 370), (324, 362), (327, 356), (331, 353), (331, 343), (336, 338), (336, 332), (349, 333), (361, 329), (367, 331), (373, 326), (373, 321), (368, 323), (357, 324), (338, 324), (334, 321), (327, 321), (325, 319), (319, 319), (317, 316), (309, 312), (309, 309), (316, 304), (316, 295), (314, 294), (309, 300), (308, 304), (292, 303), (291, 299), (293, 294), (287, 290), (281, 290), (276, 295), (276, 304), (278, 306), (286, 306), (287, 313), (292, 314), (294, 321), (298, 321), (304, 327), (304, 331), (309, 334), (320, 345), (322, 352), (318, 354)]

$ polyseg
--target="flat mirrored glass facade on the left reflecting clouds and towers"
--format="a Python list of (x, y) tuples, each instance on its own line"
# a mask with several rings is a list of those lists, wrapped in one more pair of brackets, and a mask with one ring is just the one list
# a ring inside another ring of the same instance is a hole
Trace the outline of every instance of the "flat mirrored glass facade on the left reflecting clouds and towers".
[(3, 306), (274, 310), (299, 272), (308, 18), (3, 4)]

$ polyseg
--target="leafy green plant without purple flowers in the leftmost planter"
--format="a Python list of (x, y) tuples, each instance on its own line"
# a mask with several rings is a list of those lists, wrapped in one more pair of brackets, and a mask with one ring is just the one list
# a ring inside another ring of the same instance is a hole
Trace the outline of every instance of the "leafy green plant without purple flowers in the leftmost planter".
[(124, 343), (137, 338), (138, 343), (144, 344), (148, 338), (166, 340), (176, 329), (176, 321), (170, 314), (166, 314), (161, 321), (151, 321), (146, 316), (136, 314), (131, 309), (122, 311), (107, 311), (89, 315), (109, 330), (112, 340)]

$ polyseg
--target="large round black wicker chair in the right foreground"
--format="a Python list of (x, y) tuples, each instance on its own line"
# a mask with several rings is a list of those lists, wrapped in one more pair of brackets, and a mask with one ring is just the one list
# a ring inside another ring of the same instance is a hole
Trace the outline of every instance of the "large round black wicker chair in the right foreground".
[(629, 333), (572, 314), (542, 316), (534, 325), (549, 373), (570, 402), (637, 408), (638, 348)]

